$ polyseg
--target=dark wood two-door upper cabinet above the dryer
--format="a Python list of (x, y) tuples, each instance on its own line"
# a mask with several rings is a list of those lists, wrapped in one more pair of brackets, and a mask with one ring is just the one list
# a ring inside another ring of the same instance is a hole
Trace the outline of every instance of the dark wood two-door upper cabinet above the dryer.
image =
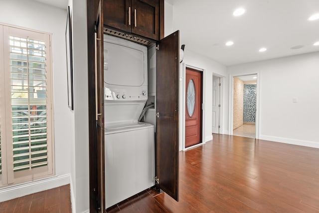
[[(160, 40), (163, 0), (103, 0), (104, 26), (136, 36)], [(162, 8), (161, 8), (162, 7)]]

